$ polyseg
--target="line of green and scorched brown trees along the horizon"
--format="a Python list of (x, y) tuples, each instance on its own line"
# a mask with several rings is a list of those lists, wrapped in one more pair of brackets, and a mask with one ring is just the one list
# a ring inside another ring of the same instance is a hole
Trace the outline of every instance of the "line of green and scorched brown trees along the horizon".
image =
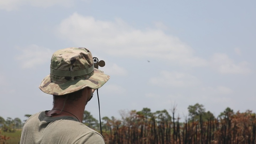
[[(241, 113), (227, 107), (214, 117), (203, 105), (196, 103), (188, 106), (184, 122), (180, 122), (179, 116), (175, 117), (176, 106), (170, 112), (151, 112), (150, 108), (143, 108), (120, 114), (121, 119), (102, 118), (106, 144), (254, 144), (256, 139), (255, 113), (250, 110)], [(88, 111), (84, 111), (82, 123), (100, 131), (99, 122)], [(13, 132), (22, 126), (19, 118), (5, 120), (0, 117), (2, 130)]]

